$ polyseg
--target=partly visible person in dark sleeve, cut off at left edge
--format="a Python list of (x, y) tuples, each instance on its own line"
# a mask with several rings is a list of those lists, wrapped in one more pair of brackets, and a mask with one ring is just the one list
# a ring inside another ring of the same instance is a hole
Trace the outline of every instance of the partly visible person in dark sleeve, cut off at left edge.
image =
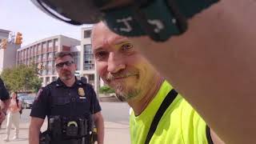
[(1, 123), (6, 118), (6, 110), (10, 103), (10, 95), (9, 95), (8, 91), (6, 90), (6, 86), (2, 82), (1, 78), (0, 78), (0, 99), (3, 103), (3, 107), (0, 106), (0, 126), (1, 126)]

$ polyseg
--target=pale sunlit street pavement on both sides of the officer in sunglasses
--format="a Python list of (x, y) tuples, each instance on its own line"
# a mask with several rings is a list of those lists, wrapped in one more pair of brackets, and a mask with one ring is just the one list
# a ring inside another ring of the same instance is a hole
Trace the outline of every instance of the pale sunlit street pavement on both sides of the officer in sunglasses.
[[(101, 102), (102, 114), (105, 121), (105, 144), (130, 144), (129, 134), (129, 109), (126, 102)], [(4, 142), (6, 137), (6, 121), (2, 123), (0, 130), (0, 143), (6, 144), (27, 144), (28, 130), (30, 123), (30, 109), (23, 110), (20, 122), (20, 134), (18, 140), (11, 140), (14, 136), (14, 129), (10, 132), (10, 142)], [(42, 131), (46, 130), (46, 121)]]

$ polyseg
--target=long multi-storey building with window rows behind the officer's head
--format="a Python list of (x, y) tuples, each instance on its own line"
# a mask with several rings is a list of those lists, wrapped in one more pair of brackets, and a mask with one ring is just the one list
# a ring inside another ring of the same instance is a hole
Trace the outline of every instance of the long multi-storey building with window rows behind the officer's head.
[(17, 50), (16, 64), (35, 64), (42, 67), (38, 71), (39, 78), (42, 79), (42, 86), (46, 86), (58, 78), (55, 70), (54, 56), (59, 51), (70, 51), (74, 54), (74, 61), (80, 70), (80, 41), (63, 35), (44, 38), (28, 46), (23, 46)]

